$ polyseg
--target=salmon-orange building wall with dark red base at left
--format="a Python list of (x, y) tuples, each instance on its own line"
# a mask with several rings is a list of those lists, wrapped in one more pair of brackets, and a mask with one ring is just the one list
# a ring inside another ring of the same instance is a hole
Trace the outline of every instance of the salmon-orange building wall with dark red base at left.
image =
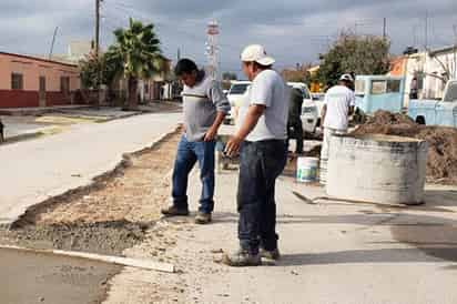
[[(23, 90), (11, 90), (11, 73), (23, 75)], [(71, 104), (79, 90), (79, 68), (55, 61), (0, 52), (0, 108), (39, 107), (40, 77), (45, 77), (45, 105)], [(61, 77), (70, 78), (70, 93), (61, 92)]]

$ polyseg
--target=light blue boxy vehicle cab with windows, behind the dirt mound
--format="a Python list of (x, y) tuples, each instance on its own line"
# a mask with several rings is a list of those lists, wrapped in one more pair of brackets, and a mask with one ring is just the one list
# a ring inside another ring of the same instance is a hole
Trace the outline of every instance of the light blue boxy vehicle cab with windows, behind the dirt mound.
[(364, 114), (377, 110), (402, 112), (405, 79), (388, 75), (357, 75), (355, 80), (356, 109)]

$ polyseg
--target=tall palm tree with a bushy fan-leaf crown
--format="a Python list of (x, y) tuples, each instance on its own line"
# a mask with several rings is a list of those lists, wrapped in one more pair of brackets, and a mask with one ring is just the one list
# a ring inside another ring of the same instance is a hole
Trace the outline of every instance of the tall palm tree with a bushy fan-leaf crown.
[(162, 71), (163, 55), (160, 40), (154, 32), (154, 26), (143, 26), (140, 21), (130, 19), (128, 29), (114, 31), (115, 42), (106, 52), (106, 62), (118, 65), (121, 62), (122, 73), (128, 80), (129, 110), (138, 109), (138, 82), (149, 79)]

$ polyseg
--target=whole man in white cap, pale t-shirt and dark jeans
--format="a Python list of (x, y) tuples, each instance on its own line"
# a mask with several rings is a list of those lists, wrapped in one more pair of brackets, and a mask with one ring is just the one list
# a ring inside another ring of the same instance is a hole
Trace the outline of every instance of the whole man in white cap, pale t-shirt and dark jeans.
[(241, 55), (243, 72), (253, 82), (238, 112), (238, 130), (226, 145), (240, 154), (237, 210), (240, 251), (225, 255), (230, 266), (256, 266), (262, 257), (280, 259), (276, 234), (275, 182), (287, 159), (288, 88), (272, 69), (275, 60), (262, 45)]

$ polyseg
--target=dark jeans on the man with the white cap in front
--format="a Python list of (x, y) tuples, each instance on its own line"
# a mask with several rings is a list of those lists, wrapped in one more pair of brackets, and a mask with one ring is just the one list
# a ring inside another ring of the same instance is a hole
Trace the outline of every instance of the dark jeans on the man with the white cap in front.
[(286, 161), (286, 141), (242, 144), (237, 193), (238, 239), (241, 247), (251, 254), (257, 254), (260, 246), (267, 251), (277, 249), (275, 183)]

